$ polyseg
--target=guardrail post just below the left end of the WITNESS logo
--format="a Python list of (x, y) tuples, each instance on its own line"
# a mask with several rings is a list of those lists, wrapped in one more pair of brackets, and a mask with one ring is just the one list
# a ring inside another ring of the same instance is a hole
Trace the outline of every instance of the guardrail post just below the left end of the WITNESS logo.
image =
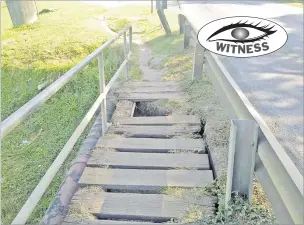
[(205, 49), (197, 41), (193, 55), (192, 80), (200, 79), (203, 75), (204, 52)]

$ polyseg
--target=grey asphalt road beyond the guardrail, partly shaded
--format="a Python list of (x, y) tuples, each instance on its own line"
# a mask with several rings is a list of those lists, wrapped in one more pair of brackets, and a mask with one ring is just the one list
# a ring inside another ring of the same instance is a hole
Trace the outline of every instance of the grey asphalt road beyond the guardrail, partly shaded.
[(220, 59), (303, 174), (303, 8), (257, 0), (179, 2), (198, 29), (228, 16), (261, 17), (285, 28), (288, 40), (274, 53)]

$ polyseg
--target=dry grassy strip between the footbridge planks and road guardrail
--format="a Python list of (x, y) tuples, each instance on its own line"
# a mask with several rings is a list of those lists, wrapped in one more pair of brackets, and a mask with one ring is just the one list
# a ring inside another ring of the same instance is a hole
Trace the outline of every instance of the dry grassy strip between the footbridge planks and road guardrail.
[[(257, 180), (254, 182), (253, 202), (248, 204), (241, 196), (236, 195), (224, 208), (225, 184), (227, 168), (227, 154), (229, 142), (230, 119), (225, 110), (220, 106), (215, 89), (206, 74), (196, 82), (191, 81), (193, 49), (183, 50), (183, 38), (181, 35), (171, 37), (158, 37), (148, 42), (153, 50), (155, 59), (150, 66), (163, 70), (164, 80), (179, 81), (187, 98), (183, 104), (179, 104), (179, 111), (187, 114), (195, 114), (205, 121), (204, 139), (212, 152), (213, 159), (218, 168), (218, 179), (207, 188), (193, 190), (172, 189), (164, 190), (165, 194), (173, 194), (178, 197), (189, 196), (200, 198), (205, 195), (213, 195), (219, 199), (219, 207), (216, 215), (205, 215), (200, 207), (189, 207), (188, 212), (181, 215), (183, 223), (195, 222), (200, 224), (273, 224), (269, 202)], [(165, 51), (165, 50), (166, 51)], [(160, 107), (169, 111), (178, 102), (161, 102)]]

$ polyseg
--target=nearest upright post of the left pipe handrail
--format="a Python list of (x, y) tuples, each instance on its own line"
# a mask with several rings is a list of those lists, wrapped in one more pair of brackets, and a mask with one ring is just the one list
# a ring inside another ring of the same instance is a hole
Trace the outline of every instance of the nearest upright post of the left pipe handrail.
[[(99, 92), (103, 94), (105, 91), (105, 77), (104, 77), (104, 61), (103, 61), (103, 52), (100, 53), (98, 56), (98, 72), (99, 72)], [(102, 136), (105, 134), (107, 130), (107, 100), (106, 96), (101, 103), (100, 106), (100, 115), (101, 115), (101, 122), (102, 122)]]

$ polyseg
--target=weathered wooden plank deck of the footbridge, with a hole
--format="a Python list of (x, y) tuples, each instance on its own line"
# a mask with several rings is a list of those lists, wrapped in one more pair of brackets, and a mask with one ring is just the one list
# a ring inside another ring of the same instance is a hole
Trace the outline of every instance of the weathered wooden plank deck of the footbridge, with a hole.
[[(172, 82), (138, 85), (131, 92), (125, 90), (119, 96), (134, 104), (139, 99), (184, 96), (178, 85)], [(171, 86), (172, 89), (159, 88), (162, 86)], [(73, 209), (84, 207), (95, 218), (77, 221), (71, 213), (65, 218), (65, 223), (172, 222), (196, 205), (207, 214), (214, 212), (214, 197), (186, 200), (163, 194), (168, 187), (201, 188), (213, 180), (203, 140), (179, 138), (200, 132), (198, 117), (117, 117), (113, 124), (105, 136), (100, 137), (70, 206)], [(101, 188), (90, 189), (96, 186)]]

